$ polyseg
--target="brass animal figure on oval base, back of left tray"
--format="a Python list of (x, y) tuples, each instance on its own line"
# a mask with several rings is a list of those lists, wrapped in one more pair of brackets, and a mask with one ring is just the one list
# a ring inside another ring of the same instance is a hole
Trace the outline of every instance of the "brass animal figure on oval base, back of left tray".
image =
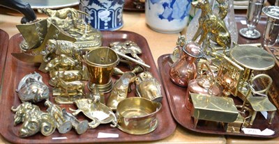
[(45, 13), (48, 25), (54, 24), (62, 29), (68, 35), (77, 39), (75, 42), (81, 49), (93, 49), (102, 45), (102, 35), (97, 29), (93, 29), (90, 24), (79, 18), (79, 13), (89, 15), (75, 8), (63, 8), (60, 10), (51, 10), (49, 8), (38, 9), (39, 13)]

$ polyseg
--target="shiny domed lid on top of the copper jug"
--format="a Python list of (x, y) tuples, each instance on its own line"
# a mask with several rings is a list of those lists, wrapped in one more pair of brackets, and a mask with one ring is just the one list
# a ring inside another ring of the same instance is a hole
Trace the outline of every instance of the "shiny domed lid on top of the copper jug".
[(188, 42), (188, 44), (183, 47), (183, 51), (195, 58), (202, 57), (202, 48), (197, 42)]

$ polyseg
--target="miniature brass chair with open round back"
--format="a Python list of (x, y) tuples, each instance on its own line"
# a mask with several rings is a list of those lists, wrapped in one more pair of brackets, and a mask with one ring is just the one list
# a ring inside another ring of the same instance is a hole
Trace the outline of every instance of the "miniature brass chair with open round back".
[[(266, 78), (269, 79), (269, 84), (264, 88), (264, 90), (258, 90), (256, 91), (253, 88), (252, 83), (258, 79), (258, 78)], [(274, 118), (274, 115), (276, 114), (276, 106), (274, 106), (270, 101), (267, 93), (269, 92), (269, 88), (271, 87), (272, 79), (269, 77), (267, 74), (257, 74), (257, 76), (253, 77), (252, 80), (250, 81), (249, 85), (249, 90), (248, 93), (246, 94), (246, 99), (243, 102), (243, 107), (246, 104), (246, 102), (249, 102), (249, 104), (252, 106), (252, 118), (250, 121), (250, 125), (254, 122), (257, 112), (258, 111), (272, 111), (271, 112), (271, 117), (269, 119), (269, 125), (271, 125), (271, 122)]]

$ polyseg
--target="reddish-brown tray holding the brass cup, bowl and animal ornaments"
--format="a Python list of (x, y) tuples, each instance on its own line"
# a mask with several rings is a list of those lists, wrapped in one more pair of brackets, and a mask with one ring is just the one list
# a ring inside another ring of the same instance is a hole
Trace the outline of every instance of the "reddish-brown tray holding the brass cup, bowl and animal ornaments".
[[(149, 45), (146, 42), (146, 39), (137, 33), (129, 32), (129, 31), (102, 31), (103, 33), (103, 46), (107, 46), (110, 42), (114, 41), (125, 41), (125, 40), (133, 40), (142, 48), (142, 56), (140, 56), (148, 65), (151, 65), (150, 72), (153, 74), (156, 79), (160, 81), (160, 76), (156, 69), (156, 65), (153, 61), (153, 57), (151, 51), (149, 49)], [(117, 128), (111, 128), (110, 124), (100, 125), (96, 129), (88, 129), (84, 134), (78, 135), (72, 129), (67, 134), (59, 134), (56, 130), (54, 134), (51, 136), (43, 136), (38, 133), (34, 136), (30, 136), (28, 138), (20, 138), (18, 137), (18, 130), (21, 125), (14, 126), (13, 125), (13, 116), (14, 114), (10, 111), (11, 106), (18, 106), (21, 104), (20, 99), (17, 97), (17, 93), (15, 93), (15, 88), (17, 88), (17, 84), (20, 79), (24, 77), (25, 74), (29, 74), (31, 72), (39, 72), (38, 67), (33, 64), (24, 63), (22, 61), (18, 61), (16, 58), (11, 56), (12, 52), (19, 52), (19, 43), (22, 41), (22, 35), (17, 34), (14, 35), (10, 39), (10, 45), (8, 49), (7, 61), (6, 61), (6, 69), (3, 80), (3, 93), (1, 96), (1, 110), (0, 110), (0, 134), (6, 138), (8, 141), (12, 143), (100, 143), (100, 142), (133, 142), (133, 141), (156, 141), (159, 139), (166, 138), (170, 134), (174, 132), (176, 129), (176, 122), (174, 122), (172, 118), (172, 114), (169, 110), (169, 105), (167, 103), (167, 97), (165, 97), (165, 91), (162, 86), (162, 94), (163, 94), (163, 107), (158, 112), (158, 127), (155, 131), (150, 134), (145, 134), (141, 136), (135, 136), (131, 134), (126, 134), (120, 131)], [(47, 80), (50, 79), (48, 74), (44, 74), (39, 72), (43, 76), (43, 81), (47, 83)], [(115, 78), (113, 79), (115, 81)], [(134, 86), (134, 85), (133, 85)], [(50, 87), (52, 91), (52, 87)], [(129, 93), (128, 97), (135, 96), (135, 87), (132, 87), (132, 92)], [(50, 97), (50, 100), (54, 102), (53, 98)], [(45, 111), (45, 106), (43, 106), (43, 102), (38, 104), (42, 111)], [(65, 107), (67, 110), (69, 107), (73, 109), (77, 109), (73, 105), (60, 105), (61, 107)], [(81, 113), (79, 114), (79, 119), (84, 119), (85, 116)], [(111, 133), (111, 134), (119, 134), (119, 138), (97, 138), (99, 132)], [(66, 139), (55, 139), (57, 137), (63, 137)], [(55, 140), (54, 140), (54, 139)]]

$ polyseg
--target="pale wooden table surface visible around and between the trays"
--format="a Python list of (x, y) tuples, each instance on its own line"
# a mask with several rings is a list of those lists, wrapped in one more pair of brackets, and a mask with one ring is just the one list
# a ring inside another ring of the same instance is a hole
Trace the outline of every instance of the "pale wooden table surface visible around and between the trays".
[[(6, 31), (10, 37), (19, 33), (15, 27), (20, 24), (22, 15), (15, 10), (0, 7), (0, 29)], [(38, 19), (46, 18), (45, 15), (37, 15)], [(154, 61), (157, 63), (158, 57), (163, 54), (172, 53), (176, 46), (176, 40), (181, 33), (164, 34), (152, 31), (145, 23), (144, 13), (127, 12), (123, 13), (124, 25), (120, 31), (133, 31), (146, 38), (151, 49)], [(156, 64), (157, 66), (157, 64)], [(1, 97), (1, 95), (0, 95)], [(220, 136), (211, 134), (199, 134), (177, 125), (174, 133), (160, 141), (150, 143), (278, 143), (279, 138), (245, 138), (234, 136)], [(9, 143), (0, 135), (0, 143)], [(146, 142), (144, 142), (146, 143)]]

